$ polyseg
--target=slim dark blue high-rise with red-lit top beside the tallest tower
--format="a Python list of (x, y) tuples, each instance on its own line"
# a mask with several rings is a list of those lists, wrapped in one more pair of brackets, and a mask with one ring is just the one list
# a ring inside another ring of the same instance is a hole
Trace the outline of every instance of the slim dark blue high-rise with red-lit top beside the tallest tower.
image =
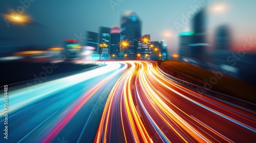
[(120, 28), (119, 26), (112, 26), (110, 31), (111, 40), (110, 40), (110, 54), (118, 57), (120, 51)]

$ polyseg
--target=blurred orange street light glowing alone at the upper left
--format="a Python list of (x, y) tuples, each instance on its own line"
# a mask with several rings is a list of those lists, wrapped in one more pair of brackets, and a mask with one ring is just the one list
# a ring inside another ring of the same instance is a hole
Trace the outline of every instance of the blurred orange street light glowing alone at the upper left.
[(9, 12), (8, 14), (4, 14), (3, 16), (5, 17), (5, 19), (16, 25), (25, 25), (31, 22), (29, 16), (25, 14)]

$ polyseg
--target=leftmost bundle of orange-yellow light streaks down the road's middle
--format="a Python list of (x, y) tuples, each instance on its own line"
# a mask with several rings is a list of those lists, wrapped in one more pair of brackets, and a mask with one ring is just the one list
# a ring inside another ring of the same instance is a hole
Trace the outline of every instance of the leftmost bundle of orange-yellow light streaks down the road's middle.
[[(141, 140), (147, 142), (151, 141), (132, 100), (130, 81), (132, 80), (132, 76), (134, 75), (137, 66), (135, 66), (134, 63), (130, 64), (132, 65), (131, 68), (118, 80), (109, 95), (109, 99), (106, 101), (95, 142), (111, 142), (113, 114), (116, 113), (116, 110), (119, 110), (118, 114), (120, 116), (118, 118), (121, 118), (125, 142), (131, 142), (131, 137), (135, 142), (140, 142)], [(119, 87), (123, 88), (118, 90)], [(119, 102), (120, 104), (118, 105), (115, 102)], [(118, 120), (118, 118), (116, 120)], [(131, 132), (127, 130), (126, 127), (129, 127)]]

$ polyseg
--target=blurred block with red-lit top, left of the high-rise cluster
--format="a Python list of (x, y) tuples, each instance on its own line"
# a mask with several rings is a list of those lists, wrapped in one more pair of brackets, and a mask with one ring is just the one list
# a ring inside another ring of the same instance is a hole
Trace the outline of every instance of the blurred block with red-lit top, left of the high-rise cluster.
[(67, 60), (78, 59), (81, 53), (82, 46), (79, 44), (78, 40), (66, 39), (65, 40), (65, 52)]

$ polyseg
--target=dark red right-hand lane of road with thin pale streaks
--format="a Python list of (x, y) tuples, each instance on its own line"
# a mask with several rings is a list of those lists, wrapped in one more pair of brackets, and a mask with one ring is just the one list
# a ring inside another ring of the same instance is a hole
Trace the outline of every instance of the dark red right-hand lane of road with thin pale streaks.
[[(147, 69), (147, 71), (151, 70)], [(155, 77), (152, 75), (153, 73), (150, 72), (148, 73), (147, 77), (151, 78), (152, 80), (159, 80), (152, 78)], [(155, 75), (157, 75), (157, 73), (155, 73)], [(234, 111), (232, 107), (221, 105), (217, 101), (207, 99), (197, 92), (176, 85), (166, 79), (159, 80), (158, 82), (160, 85), (167, 88), (167, 90), (161, 91), (161, 93), (166, 95), (168, 100), (170, 100), (169, 102), (166, 100), (166, 103), (169, 104), (167, 105), (176, 109), (177, 113), (180, 112), (179, 114), (182, 115), (181, 117), (184, 118), (187, 123), (194, 126), (195, 129), (201, 131), (203, 135), (206, 136), (205, 138), (210, 139), (209, 141), (223, 142), (232, 141), (233, 139), (240, 142), (249, 142), (254, 138), (255, 118)], [(157, 84), (155, 84), (156, 82), (151, 83), (152, 88), (161, 88), (157, 87)], [(162, 100), (164, 100), (164, 98), (162, 98)], [(189, 125), (186, 127), (189, 127)], [(193, 127), (191, 127), (191, 129), (193, 129)]]

